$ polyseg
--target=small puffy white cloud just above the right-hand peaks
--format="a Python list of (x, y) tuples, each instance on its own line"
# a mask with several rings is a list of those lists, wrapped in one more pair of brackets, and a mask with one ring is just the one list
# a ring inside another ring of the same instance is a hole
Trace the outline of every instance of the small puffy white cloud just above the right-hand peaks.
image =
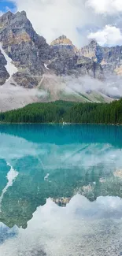
[(98, 32), (91, 32), (88, 39), (95, 39), (101, 46), (122, 45), (122, 33), (120, 28), (106, 25)]

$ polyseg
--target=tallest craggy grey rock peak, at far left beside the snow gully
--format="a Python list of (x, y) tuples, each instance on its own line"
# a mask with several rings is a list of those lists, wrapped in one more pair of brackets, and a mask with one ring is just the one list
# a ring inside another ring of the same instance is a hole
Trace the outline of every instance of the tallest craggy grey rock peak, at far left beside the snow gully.
[(50, 47), (35, 33), (24, 11), (0, 17), (0, 42), (18, 69), (14, 80), (24, 87), (37, 86), (35, 76), (43, 74), (43, 59), (47, 58)]

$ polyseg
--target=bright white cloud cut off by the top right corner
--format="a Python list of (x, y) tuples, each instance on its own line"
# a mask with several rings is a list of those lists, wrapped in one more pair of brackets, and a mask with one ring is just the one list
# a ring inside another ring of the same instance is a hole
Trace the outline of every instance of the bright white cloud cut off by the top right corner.
[(91, 6), (96, 13), (120, 13), (122, 12), (121, 0), (88, 0), (88, 6)]

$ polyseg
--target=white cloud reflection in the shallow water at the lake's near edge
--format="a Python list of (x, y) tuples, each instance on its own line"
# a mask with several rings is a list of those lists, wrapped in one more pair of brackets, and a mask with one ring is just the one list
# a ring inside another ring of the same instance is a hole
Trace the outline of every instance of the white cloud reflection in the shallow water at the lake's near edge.
[[(9, 230), (1, 255), (81, 255), (81, 248), (85, 255), (97, 255), (100, 248), (105, 255), (108, 248), (109, 254), (114, 254), (114, 247), (120, 255), (121, 217), (122, 201), (117, 197), (99, 197), (89, 202), (76, 195), (66, 207), (56, 206), (49, 198), (28, 221), (28, 228)], [(6, 236), (8, 230), (4, 229)]]

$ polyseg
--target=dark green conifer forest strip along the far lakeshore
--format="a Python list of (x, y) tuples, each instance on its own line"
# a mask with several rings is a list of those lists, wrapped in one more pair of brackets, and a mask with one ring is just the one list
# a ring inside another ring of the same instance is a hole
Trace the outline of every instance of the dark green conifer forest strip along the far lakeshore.
[(122, 99), (111, 103), (33, 103), (23, 109), (0, 113), (9, 123), (92, 123), (122, 124)]

